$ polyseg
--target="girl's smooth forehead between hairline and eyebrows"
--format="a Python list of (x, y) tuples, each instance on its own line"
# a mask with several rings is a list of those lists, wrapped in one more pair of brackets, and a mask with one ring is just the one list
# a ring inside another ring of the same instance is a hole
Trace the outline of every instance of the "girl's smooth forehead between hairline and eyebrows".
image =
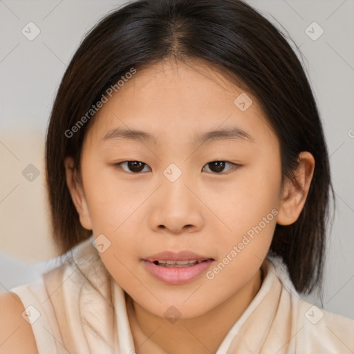
[(198, 62), (160, 62), (137, 71), (107, 98), (88, 131), (97, 140), (113, 129), (145, 131), (155, 143), (162, 136), (200, 142), (205, 134), (197, 133), (232, 127), (253, 140), (262, 130), (272, 133), (250, 93)]

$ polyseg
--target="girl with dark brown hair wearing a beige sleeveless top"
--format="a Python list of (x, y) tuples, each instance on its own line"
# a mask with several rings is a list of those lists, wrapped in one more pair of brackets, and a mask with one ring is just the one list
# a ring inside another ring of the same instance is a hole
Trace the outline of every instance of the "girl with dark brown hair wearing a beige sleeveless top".
[(333, 194), (313, 93), (243, 1), (102, 19), (59, 86), (46, 172), (64, 257), (3, 297), (2, 342), (26, 339), (3, 353), (353, 353), (354, 321), (299, 297), (321, 286)]

